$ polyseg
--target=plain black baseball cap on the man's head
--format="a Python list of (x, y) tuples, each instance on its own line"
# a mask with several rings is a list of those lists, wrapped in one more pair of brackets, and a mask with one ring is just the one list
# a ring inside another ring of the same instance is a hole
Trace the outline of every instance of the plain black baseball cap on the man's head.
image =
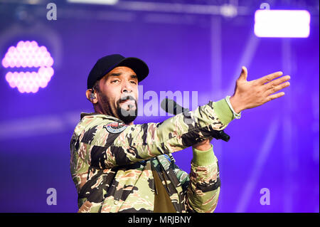
[(139, 58), (124, 58), (119, 54), (112, 54), (97, 60), (87, 77), (87, 89), (95, 85), (97, 80), (103, 78), (107, 73), (117, 66), (127, 66), (137, 74), (138, 81), (142, 81), (149, 74), (149, 68), (143, 60)]

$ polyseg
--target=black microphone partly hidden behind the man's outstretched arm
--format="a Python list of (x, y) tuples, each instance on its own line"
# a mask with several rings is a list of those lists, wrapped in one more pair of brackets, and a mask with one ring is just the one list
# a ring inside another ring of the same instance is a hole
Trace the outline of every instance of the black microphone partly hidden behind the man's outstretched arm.
[[(181, 107), (181, 105), (178, 105), (178, 103), (176, 103), (174, 100), (170, 100), (167, 97), (164, 100), (162, 100), (160, 106), (162, 110), (169, 112), (172, 115), (178, 115), (181, 112), (183, 112), (183, 115), (186, 117), (190, 117), (191, 115), (188, 108)], [(212, 137), (215, 139), (222, 139), (225, 142), (228, 142), (230, 139), (230, 136), (226, 134), (223, 130), (213, 130)]]

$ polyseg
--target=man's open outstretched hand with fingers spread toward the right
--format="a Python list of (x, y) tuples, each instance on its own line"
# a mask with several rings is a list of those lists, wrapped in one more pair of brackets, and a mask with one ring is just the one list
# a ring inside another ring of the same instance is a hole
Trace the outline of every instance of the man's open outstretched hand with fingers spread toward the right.
[[(257, 80), (247, 81), (247, 68), (242, 66), (240, 77), (235, 83), (235, 93), (230, 97), (233, 110), (239, 113), (242, 110), (251, 109), (282, 97), (284, 92), (277, 93), (277, 91), (290, 85), (287, 82), (290, 80), (290, 76), (286, 75), (279, 78), (282, 74), (282, 72), (275, 72)], [(275, 78), (277, 79), (274, 80)]]

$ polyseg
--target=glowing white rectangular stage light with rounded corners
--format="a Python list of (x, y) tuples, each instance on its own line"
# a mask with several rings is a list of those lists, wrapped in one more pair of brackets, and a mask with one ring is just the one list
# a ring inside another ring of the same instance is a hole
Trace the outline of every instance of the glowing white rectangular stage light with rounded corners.
[(305, 10), (257, 10), (255, 35), (258, 37), (306, 38), (310, 14)]

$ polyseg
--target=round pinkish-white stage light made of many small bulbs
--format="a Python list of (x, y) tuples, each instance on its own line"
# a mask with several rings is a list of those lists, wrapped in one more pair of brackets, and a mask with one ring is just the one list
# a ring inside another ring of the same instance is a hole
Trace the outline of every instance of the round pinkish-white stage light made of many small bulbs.
[[(2, 65), (15, 70), (6, 73), (6, 81), (20, 93), (36, 93), (39, 88), (46, 88), (54, 73), (53, 58), (36, 41), (19, 41), (16, 47), (9, 47)], [(21, 68), (36, 68), (36, 71), (16, 71)]]

